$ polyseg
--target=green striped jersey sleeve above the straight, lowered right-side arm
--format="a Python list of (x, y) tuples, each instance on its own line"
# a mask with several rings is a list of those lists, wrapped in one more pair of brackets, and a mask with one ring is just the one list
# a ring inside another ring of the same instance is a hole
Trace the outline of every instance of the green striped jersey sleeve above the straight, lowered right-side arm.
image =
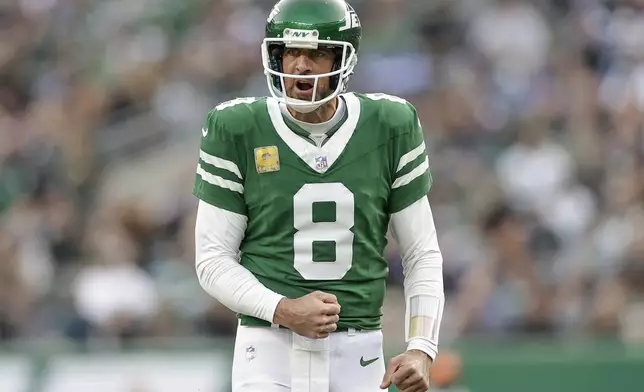
[(413, 107), (411, 110), (411, 120), (393, 140), (393, 182), (389, 198), (391, 214), (404, 210), (427, 195), (432, 186), (423, 129), (416, 110)]

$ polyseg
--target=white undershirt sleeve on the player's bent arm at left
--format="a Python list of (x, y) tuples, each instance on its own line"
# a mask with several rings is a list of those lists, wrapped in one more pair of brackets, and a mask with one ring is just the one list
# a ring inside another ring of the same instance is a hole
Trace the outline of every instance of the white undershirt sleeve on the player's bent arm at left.
[(201, 287), (230, 310), (273, 322), (284, 297), (266, 288), (239, 264), (248, 218), (199, 201), (195, 267)]

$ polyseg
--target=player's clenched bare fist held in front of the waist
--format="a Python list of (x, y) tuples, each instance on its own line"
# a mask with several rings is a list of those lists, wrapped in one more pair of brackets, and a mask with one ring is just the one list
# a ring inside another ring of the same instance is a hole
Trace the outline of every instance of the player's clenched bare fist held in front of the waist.
[(321, 339), (338, 328), (339, 314), (340, 304), (335, 295), (316, 291), (297, 299), (283, 298), (273, 322), (298, 335)]

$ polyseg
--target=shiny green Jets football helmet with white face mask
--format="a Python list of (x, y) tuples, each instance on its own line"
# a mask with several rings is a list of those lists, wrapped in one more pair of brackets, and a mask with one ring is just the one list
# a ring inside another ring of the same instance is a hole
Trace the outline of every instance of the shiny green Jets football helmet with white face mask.
[[(344, 0), (281, 0), (266, 22), (266, 37), (262, 43), (262, 63), (271, 95), (295, 110), (312, 112), (329, 102), (347, 88), (349, 78), (358, 62), (362, 28), (360, 19)], [(285, 48), (330, 48), (335, 63), (329, 73), (320, 75), (286, 74), (282, 69)], [(286, 96), (284, 78), (312, 79), (310, 101)], [(332, 93), (317, 99), (320, 78), (330, 77)]]

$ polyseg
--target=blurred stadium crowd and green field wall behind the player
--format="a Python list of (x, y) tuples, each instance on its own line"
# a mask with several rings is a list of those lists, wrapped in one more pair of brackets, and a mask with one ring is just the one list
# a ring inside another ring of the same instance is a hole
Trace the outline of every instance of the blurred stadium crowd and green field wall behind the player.
[[(190, 192), (208, 109), (265, 95), (271, 3), (1, 2), (0, 391), (229, 390)], [(644, 1), (353, 4), (351, 89), (426, 132), (453, 390), (641, 390)]]

